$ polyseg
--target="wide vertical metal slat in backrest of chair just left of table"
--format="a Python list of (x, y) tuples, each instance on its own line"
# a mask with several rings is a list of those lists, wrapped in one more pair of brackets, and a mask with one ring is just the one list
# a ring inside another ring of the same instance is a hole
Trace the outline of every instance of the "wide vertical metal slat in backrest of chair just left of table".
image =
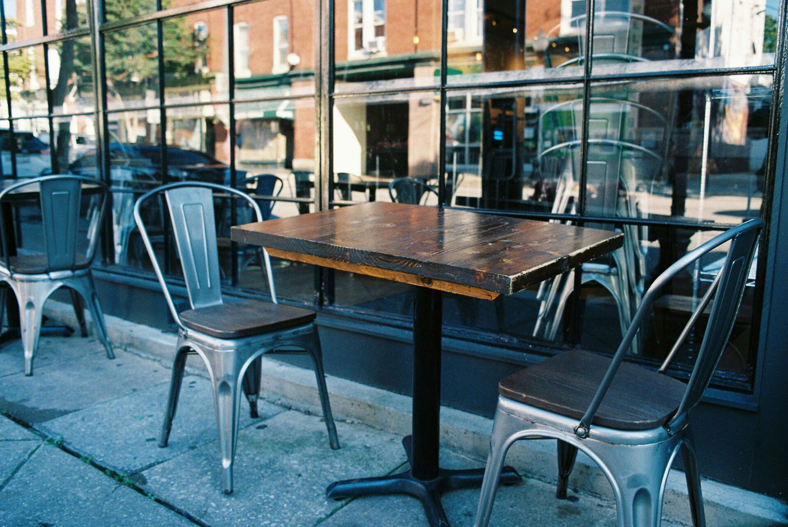
[(176, 187), (165, 195), (192, 309), (221, 304), (213, 192)]

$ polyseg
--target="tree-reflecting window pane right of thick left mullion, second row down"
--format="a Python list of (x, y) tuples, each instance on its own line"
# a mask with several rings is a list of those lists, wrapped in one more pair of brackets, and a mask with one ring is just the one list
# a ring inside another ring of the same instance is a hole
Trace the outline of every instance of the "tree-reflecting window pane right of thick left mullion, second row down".
[(104, 65), (109, 109), (158, 105), (156, 24), (106, 33)]

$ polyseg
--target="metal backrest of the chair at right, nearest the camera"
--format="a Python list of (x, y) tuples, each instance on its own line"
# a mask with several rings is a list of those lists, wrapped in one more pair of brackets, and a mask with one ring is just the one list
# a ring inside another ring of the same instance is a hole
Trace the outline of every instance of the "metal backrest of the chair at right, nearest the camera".
[[(763, 228), (763, 226), (763, 220), (755, 219), (746, 221), (742, 225), (737, 225), (734, 228), (730, 228), (726, 232), (709, 239), (699, 247), (689, 251), (682, 256), (682, 258), (678, 258), (673, 265), (668, 267), (660, 276), (657, 276), (649, 290), (645, 292), (641, 304), (634, 315), (632, 324), (627, 330), (615, 355), (613, 355), (608, 371), (600, 382), (599, 388), (597, 388), (597, 392), (588, 410), (586, 410), (580, 423), (574, 429), (574, 432), (578, 436), (588, 436), (593, 416), (599, 409), (605, 393), (608, 392), (608, 388), (610, 388), (615, 373), (618, 371), (621, 362), (623, 362), (624, 355), (629, 351), (635, 334), (651, 312), (652, 305), (656, 301), (660, 289), (668, 284), (674, 276), (686, 269), (686, 267), (703, 257), (704, 254), (708, 254), (724, 243), (730, 242), (723, 269), (720, 270), (717, 279), (710, 287), (704, 299), (701, 300), (692, 316), (689, 317), (685, 330), (682, 332), (681, 336), (679, 336), (674, 346), (675, 350), (682, 344), (683, 340), (689, 334), (689, 329), (700, 318), (700, 315), (708, 305), (709, 299), (714, 295), (712, 310), (708, 315), (703, 341), (700, 351), (697, 354), (693, 372), (689, 377), (686, 392), (684, 393), (675, 415), (670, 421), (667, 421), (665, 428), (670, 432), (675, 432), (686, 424), (687, 412), (692, 410), (693, 406), (700, 402), (703, 393), (708, 387), (709, 381), (712, 379), (712, 373), (714, 373), (717, 367), (719, 358), (723, 354), (723, 349), (727, 343), (728, 337), (730, 337), (734, 319), (738, 312), (738, 306), (742, 302), (745, 281), (749, 273), (750, 262), (753, 260), (756, 241), (760, 229)], [(674, 352), (671, 351), (667, 356), (665, 364), (660, 368), (660, 371), (667, 369), (667, 364), (673, 356)]]

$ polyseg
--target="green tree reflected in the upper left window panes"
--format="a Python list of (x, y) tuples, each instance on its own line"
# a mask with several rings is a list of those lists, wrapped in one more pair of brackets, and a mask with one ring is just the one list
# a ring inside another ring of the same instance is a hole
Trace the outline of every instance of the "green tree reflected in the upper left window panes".
[[(86, 6), (89, 2), (65, 0), (65, 16), (61, 31), (87, 25)], [(106, 20), (123, 20), (151, 11), (149, 0), (113, 0), (104, 2)], [(167, 9), (169, 2), (162, 2)], [(164, 67), (168, 76), (181, 79), (202, 76), (195, 72), (195, 63), (205, 58), (204, 40), (194, 39), (184, 17), (162, 23)], [(60, 46), (58, 83), (52, 87), (54, 107), (62, 107), (72, 91), (78, 91), (83, 79), (92, 79), (94, 50), (89, 39), (65, 40)], [(158, 87), (158, 41), (156, 24), (142, 24), (104, 34), (104, 71), (107, 89), (120, 97), (125, 93), (139, 94), (144, 89)], [(82, 89), (85, 87), (82, 86)], [(58, 166), (65, 169), (69, 160), (70, 123), (61, 121), (57, 131)], [(58, 167), (53, 167), (57, 170)]]

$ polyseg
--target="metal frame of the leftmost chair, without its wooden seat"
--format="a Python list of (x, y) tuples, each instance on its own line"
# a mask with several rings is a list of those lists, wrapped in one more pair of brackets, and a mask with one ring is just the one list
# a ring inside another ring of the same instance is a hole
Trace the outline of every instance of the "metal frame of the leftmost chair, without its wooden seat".
[[(82, 199), (82, 185), (91, 184), (99, 189), (98, 208), (88, 218), (87, 251), (84, 256), (87, 266), (76, 269), (77, 246), (79, 232), (79, 214)], [(109, 337), (107, 336), (104, 314), (99, 295), (91, 274), (91, 264), (95, 256), (95, 247), (99, 239), (99, 231), (106, 213), (106, 202), (109, 190), (105, 183), (87, 176), (73, 174), (41, 176), (12, 184), (0, 192), (0, 206), (6, 197), (23, 187), (38, 185), (41, 196), (41, 214), (46, 247), (46, 271), (43, 273), (20, 273), (11, 269), (9, 258), (12, 258), (16, 247), (12, 249), (11, 240), (6, 236), (9, 228), (5, 214), (0, 214), (0, 233), (2, 233), (3, 262), (0, 265), (0, 281), (9, 284), (17, 296), (20, 312), (20, 329), (22, 349), (24, 352), (24, 374), (33, 374), (33, 358), (38, 348), (42, 328), (43, 306), (50, 295), (61, 287), (71, 290), (72, 302), (83, 336), (87, 336), (84, 315), (79, 297), (84, 299), (93, 319), (96, 336), (106, 349), (107, 358), (115, 358)], [(64, 202), (64, 200), (66, 200)], [(67, 207), (67, 218), (76, 221), (63, 221), (63, 216), (54, 217), (58, 206)], [(47, 213), (50, 210), (52, 212)], [(0, 318), (6, 305), (6, 289), (0, 291)]]

